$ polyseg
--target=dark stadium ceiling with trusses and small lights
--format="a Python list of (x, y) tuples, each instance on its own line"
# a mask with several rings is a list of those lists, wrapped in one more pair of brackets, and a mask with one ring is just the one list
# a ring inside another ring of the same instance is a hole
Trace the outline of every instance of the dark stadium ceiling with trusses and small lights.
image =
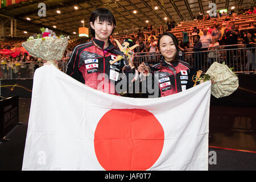
[[(45, 17), (38, 15), (38, 5), (42, 2), (46, 5)], [(216, 3), (217, 10), (230, 10), (232, 6), (238, 5), (242, 5), (243, 8), (255, 5), (255, 0), (31, 0), (0, 9), (0, 24), (4, 23), (6, 31), (9, 32), (8, 19), (13, 19), (16, 22), (16, 36), (24, 36), (23, 31), (30, 35), (34, 34), (41, 27), (72, 36), (73, 32), (78, 33), (79, 27), (83, 26), (81, 20), (84, 20), (85, 27), (88, 27), (92, 11), (98, 7), (105, 7), (112, 11), (117, 20), (115, 32), (120, 32), (131, 28), (143, 29), (148, 23), (153, 27), (166, 25), (170, 19), (174, 19), (176, 23), (192, 20), (199, 13), (207, 14), (210, 9), (209, 3), (212, 2)], [(75, 10), (74, 6), (78, 9)], [(61, 13), (56, 13), (57, 10)], [(137, 13), (134, 13), (134, 10)]]

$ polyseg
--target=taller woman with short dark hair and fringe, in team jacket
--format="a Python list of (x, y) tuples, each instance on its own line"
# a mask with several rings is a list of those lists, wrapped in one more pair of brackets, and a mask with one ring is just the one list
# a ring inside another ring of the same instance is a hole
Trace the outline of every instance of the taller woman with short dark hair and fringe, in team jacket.
[[(74, 49), (66, 72), (91, 88), (119, 95), (115, 85), (119, 80), (119, 73), (122, 73), (125, 60), (110, 64), (110, 61), (122, 54), (109, 40), (115, 26), (115, 18), (110, 10), (103, 8), (94, 10), (89, 19), (93, 38)], [(135, 73), (135, 69), (131, 69), (131, 73)]]

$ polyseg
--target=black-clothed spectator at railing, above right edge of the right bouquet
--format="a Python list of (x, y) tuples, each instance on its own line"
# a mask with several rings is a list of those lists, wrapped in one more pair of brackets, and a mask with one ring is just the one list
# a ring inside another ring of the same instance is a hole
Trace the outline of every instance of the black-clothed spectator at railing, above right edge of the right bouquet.
[[(226, 27), (224, 31), (224, 44), (225, 45), (236, 45), (237, 44), (237, 38), (238, 38), (238, 30), (233, 25), (231, 28)], [(235, 49), (237, 46), (229, 46), (228, 49)], [(230, 65), (231, 61), (233, 61), (234, 56), (230, 56), (230, 53), (234, 55), (233, 50), (226, 51), (226, 64)]]

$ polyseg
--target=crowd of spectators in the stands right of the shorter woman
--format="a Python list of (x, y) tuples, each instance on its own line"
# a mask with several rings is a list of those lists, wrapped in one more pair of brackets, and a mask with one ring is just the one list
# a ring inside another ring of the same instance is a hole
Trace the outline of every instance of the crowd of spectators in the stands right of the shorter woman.
[[(237, 10), (238, 14), (226, 15), (218, 13), (220, 16), (225, 16), (225, 19), (222, 23), (214, 20), (214, 23), (209, 27), (207, 26), (195, 26), (191, 27), (189, 32), (192, 32), (191, 35), (188, 35), (188, 30), (183, 29), (182, 39), (179, 40), (181, 45), (181, 51), (185, 52), (187, 49), (192, 48), (195, 51), (195, 63), (196, 66), (201, 69), (201, 63), (204, 63), (204, 60), (207, 60), (209, 64), (216, 61), (218, 57), (220, 57), (219, 53), (216, 53), (219, 46), (225, 46), (226, 49), (236, 49), (238, 48), (238, 39), (242, 39), (242, 44), (250, 44), (250, 46), (246, 47), (254, 47), (254, 33), (255, 26), (254, 23), (250, 23), (249, 26), (242, 27), (241, 24), (237, 26), (234, 24), (234, 20), (240, 19), (240, 14), (256, 14), (256, 7), (254, 7), (254, 11), (243, 10), (241, 6)], [(209, 16), (205, 16), (203, 20), (210, 19)], [(253, 19), (249, 18), (249, 22), (253, 21)], [(189, 40), (189, 36), (192, 36), (192, 40)], [(248, 41), (248, 36), (250, 40)], [(201, 51), (211, 51), (208, 53), (208, 56), (205, 56), (205, 53), (199, 53)], [(197, 53), (198, 52), (198, 53)], [(232, 58), (236, 56), (236, 53), (233, 50), (226, 51), (226, 64), (231, 66)], [(247, 50), (246, 56), (248, 58), (248, 62), (246, 64), (246, 70), (249, 70), (250, 64), (253, 64), (253, 70), (255, 71), (255, 53), (254, 49)], [(184, 56), (183, 56), (184, 57)], [(250, 61), (249, 61), (250, 60)], [(251, 63), (250, 63), (251, 62)]]

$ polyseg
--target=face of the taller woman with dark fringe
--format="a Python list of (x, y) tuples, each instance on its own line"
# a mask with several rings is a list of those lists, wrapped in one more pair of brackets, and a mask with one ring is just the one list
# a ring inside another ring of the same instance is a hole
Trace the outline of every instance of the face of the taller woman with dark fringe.
[(94, 22), (90, 22), (90, 26), (95, 31), (95, 38), (99, 40), (108, 40), (109, 36), (112, 34), (114, 24), (109, 22), (101, 22), (97, 18)]

